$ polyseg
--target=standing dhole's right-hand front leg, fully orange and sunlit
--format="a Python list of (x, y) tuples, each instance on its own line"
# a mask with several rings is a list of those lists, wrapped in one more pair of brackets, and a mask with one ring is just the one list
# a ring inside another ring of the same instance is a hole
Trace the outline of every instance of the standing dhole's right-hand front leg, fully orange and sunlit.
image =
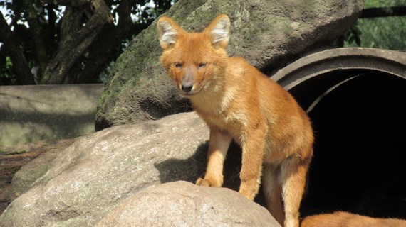
[(266, 139), (266, 126), (246, 133), (242, 143), (241, 186), (239, 193), (251, 201), (259, 191), (261, 183), (262, 162), (264, 160), (264, 147)]

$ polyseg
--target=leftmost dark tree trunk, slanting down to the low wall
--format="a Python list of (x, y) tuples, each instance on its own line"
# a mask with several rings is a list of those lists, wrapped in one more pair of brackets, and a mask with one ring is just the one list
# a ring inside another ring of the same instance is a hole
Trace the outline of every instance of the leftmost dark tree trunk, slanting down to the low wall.
[(24, 56), (24, 53), (18, 43), (18, 38), (16, 38), (11, 31), (9, 24), (4, 19), (3, 13), (1, 13), (1, 11), (0, 41), (4, 43), (4, 48), (6, 48), (7, 52), (9, 53), (17, 79), (19, 79), (22, 84), (35, 84), (33, 74), (31, 74), (31, 70), (28, 67), (26, 56)]

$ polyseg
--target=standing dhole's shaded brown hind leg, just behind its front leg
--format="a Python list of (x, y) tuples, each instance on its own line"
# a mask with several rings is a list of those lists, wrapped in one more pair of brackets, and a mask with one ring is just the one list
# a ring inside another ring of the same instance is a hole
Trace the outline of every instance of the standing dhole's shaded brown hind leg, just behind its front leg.
[(276, 165), (264, 165), (262, 175), (262, 188), (266, 208), (281, 226), (285, 221), (282, 204), (282, 185), (279, 178), (279, 168)]

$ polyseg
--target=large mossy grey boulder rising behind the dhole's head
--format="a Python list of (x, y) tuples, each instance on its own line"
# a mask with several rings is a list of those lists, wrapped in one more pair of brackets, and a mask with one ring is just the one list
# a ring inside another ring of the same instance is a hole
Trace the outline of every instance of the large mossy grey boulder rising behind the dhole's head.
[[(264, 72), (315, 45), (338, 38), (363, 9), (358, 1), (186, 1), (167, 16), (182, 28), (199, 31), (219, 13), (231, 18), (229, 55), (243, 56)], [(120, 55), (96, 114), (96, 130), (190, 111), (160, 65), (156, 22), (142, 31)]]

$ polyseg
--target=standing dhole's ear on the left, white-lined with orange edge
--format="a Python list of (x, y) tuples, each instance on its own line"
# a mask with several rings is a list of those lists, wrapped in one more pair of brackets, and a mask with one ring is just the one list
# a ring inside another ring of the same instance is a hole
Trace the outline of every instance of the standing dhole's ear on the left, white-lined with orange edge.
[(162, 16), (158, 20), (157, 31), (162, 50), (167, 50), (175, 45), (177, 36), (182, 32), (182, 28), (171, 18)]

